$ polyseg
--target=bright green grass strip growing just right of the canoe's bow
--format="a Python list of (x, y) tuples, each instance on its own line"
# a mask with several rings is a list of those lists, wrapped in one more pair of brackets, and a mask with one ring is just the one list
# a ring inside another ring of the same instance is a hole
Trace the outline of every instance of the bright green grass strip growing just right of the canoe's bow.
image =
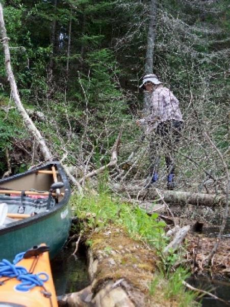
[(149, 216), (141, 208), (112, 199), (107, 192), (86, 195), (81, 199), (73, 195), (71, 203), (76, 216), (86, 220), (90, 229), (103, 228), (113, 222), (124, 227), (131, 237), (144, 240), (150, 246), (162, 250), (167, 244), (166, 224), (157, 220), (157, 213)]

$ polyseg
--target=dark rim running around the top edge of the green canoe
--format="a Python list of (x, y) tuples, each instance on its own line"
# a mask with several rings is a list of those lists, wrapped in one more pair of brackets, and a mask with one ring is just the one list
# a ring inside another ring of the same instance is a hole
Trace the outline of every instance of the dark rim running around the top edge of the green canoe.
[(23, 173), (16, 174), (14, 176), (5, 178), (3, 180), (0, 180), (0, 184), (6, 183), (8, 181), (12, 181), (14, 179), (20, 179), (20, 177), (23, 178), (24, 176), (27, 176), (27, 174), (34, 173), (34, 172), (37, 172), (38, 170), (41, 170), (41, 169), (44, 169), (44, 168), (47, 168), (47, 167), (51, 167), (51, 166), (57, 166), (57, 170), (59, 172), (59, 175), (62, 179), (62, 182), (64, 183), (65, 194), (63, 196), (63, 199), (60, 201), (60, 203), (55, 205), (53, 208), (50, 208), (49, 211), (44, 211), (44, 212), (38, 213), (34, 216), (25, 218), (22, 221), (16, 221), (16, 222), (10, 223), (9, 226), (0, 229), (0, 235), (12, 232), (16, 229), (27, 227), (31, 224), (38, 223), (41, 220), (44, 220), (46, 218), (49, 218), (52, 215), (57, 214), (59, 211), (61, 211), (63, 208), (65, 208), (68, 205), (68, 201), (69, 201), (69, 198), (70, 198), (70, 192), (71, 192), (70, 191), (70, 185), (69, 185), (69, 182), (67, 180), (66, 174), (65, 174), (64, 170), (62, 169), (59, 161), (50, 161), (50, 162), (43, 164), (42, 166), (37, 166), (37, 167), (34, 167), (33, 169), (30, 169), (30, 170), (25, 171)]

